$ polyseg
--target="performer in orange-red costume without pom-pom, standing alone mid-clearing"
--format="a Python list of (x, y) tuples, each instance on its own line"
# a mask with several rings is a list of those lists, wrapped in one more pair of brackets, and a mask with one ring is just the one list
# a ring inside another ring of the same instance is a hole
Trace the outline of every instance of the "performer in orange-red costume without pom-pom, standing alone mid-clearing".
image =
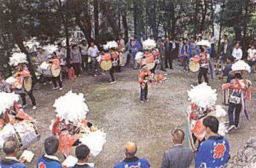
[(139, 83), (140, 83), (140, 101), (144, 103), (148, 102), (148, 84), (150, 82), (151, 72), (148, 70), (147, 65), (142, 65), (139, 73)]

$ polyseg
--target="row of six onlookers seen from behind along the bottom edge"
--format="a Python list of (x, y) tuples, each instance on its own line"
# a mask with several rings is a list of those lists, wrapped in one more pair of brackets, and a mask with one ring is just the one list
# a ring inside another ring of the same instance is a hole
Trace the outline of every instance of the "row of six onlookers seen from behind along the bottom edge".
[[(163, 154), (163, 159), (161, 162), (161, 168), (186, 168), (190, 167), (195, 160), (195, 167), (200, 167), (203, 165), (211, 165), (214, 167), (221, 167), (228, 162), (229, 156), (229, 146), (228, 141), (225, 137), (218, 135), (219, 121), (213, 116), (208, 116), (204, 119), (203, 124), (206, 130), (206, 136), (208, 139), (204, 142), (198, 144), (196, 151), (192, 151), (191, 148), (184, 147), (185, 133), (183, 130), (176, 129), (172, 133), (173, 146), (170, 149), (166, 149)], [(214, 142), (225, 142), (227, 149), (216, 150), (212, 148)], [(44, 149), (45, 153), (38, 158), (36, 164), (37, 168), (58, 168), (66, 167), (61, 165), (60, 159), (58, 158), (58, 149), (60, 147), (60, 142), (57, 137), (51, 136), (45, 139)], [(147, 158), (139, 158), (136, 156), (138, 148), (134, 142), (127, 142), (124, 146), (124, 160), (116, 162), (115, 168), (126, 168), (126, 167), (150, 167), (150, 160)], [(3, 168), (17, 168), (26, 167), (24, 158), (17, 160), (17, 153), (19, 153), (19, 144), (15, 139), (10, 139), (4, 143), (3, 151), (6, 154), (5, 158), (0, 160), (0, 167)], [(90, 149), (84, 145), (79, 144), (75, 149), (75, 155), (77, 158), (76, 165), (72, 166), (74, 168), (85, 168), (90, 167), (92, 164), (88, 164), (90, 157)], [(215, 155), (218, 155), (217, 157)], [(214, 162), (212, 162), (212, 157), (216, 157)], [(113, 164), (113, 163), (111, 163)], [(109, 165), (106, 165), (109, 167)]]

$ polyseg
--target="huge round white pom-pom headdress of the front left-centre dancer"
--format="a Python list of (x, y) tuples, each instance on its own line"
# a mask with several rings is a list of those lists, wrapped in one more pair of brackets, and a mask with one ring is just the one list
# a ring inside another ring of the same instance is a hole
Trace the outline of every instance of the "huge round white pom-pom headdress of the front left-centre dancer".
[(86, 118), (87, 112), (89, 112), (85, 101), (83, 93), (76, 94), (68, 91), (64, 96), (56, 99), (53, 104), (56, 116), (61, 120), (65, 119), (65, 121), (73, 123), (81, 122), (82, 119)]

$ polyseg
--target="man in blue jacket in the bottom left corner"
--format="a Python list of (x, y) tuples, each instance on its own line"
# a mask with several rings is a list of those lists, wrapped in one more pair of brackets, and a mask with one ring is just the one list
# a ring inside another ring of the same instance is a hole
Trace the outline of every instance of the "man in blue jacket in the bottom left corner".
[(0, 160), (1, 168), (26, 168), (26, 165), (23, 164), (25, 160), (23, 158), (17, 160), (16, 158), (17, 152), (19, 151), (19, 144), (15, 139), (5, 142), (3, 151), (6, 157)]

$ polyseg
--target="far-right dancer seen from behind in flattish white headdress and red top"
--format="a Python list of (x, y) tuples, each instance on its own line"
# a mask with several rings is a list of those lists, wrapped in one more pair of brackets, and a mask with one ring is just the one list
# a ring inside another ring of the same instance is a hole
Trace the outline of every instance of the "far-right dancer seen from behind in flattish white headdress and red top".
[[(239, 60), (231, 67), (231, 75), (234, 75), (235, 79), (232, 79), (230, 83), (223, 84), (222, 89), (231, 89), (231, 95), (228, 100), (228, 119), (229, 127), (226, 132), (230, 132), (233, 129), (238, 129), (240, 112), (249, 119), (248, 113), (245, 107), (245, 100), (251, 100), (252, 82), (243, 78), (243, 75), (247, 75), (251, 72), (251, 67), (243, 60)], [(234, 115), (235, 114), (235, 115)], [(234, 118), (235, 116), (235, 118)]]

